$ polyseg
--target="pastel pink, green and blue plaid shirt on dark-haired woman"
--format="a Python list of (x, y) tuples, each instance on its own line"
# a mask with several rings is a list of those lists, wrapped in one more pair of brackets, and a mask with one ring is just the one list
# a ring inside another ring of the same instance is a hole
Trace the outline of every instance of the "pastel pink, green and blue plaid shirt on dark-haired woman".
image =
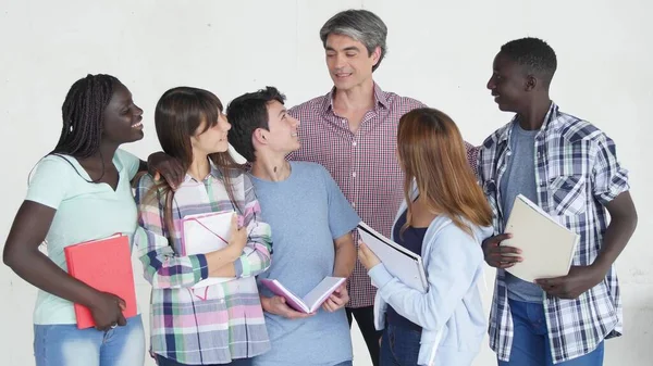
[[(145, 278), (152, 285), (151, 353), (186, 365), (229, 363), (270, 349), (255, 276), (270, 266), (270, 227), (262, 222), (254, 186), (244, 173), (231, 176), (235, 204), (222, 174), (212, 167), (202, 180), (186, 175), (174, 194), (174, 231), (164, 225), (164, 199), (147, 195), (153, 186), (144, 176), (136, 189), (139, 230), (135, 235)], [(186, 215), (235, 210), (244, 216), (247, 247), (234, 262), (236, 279), (192, 288), (209, 277), (204, 254), (185, 255), (181, 219)], [(249, 253), (249, 254), (245, 254)]]

